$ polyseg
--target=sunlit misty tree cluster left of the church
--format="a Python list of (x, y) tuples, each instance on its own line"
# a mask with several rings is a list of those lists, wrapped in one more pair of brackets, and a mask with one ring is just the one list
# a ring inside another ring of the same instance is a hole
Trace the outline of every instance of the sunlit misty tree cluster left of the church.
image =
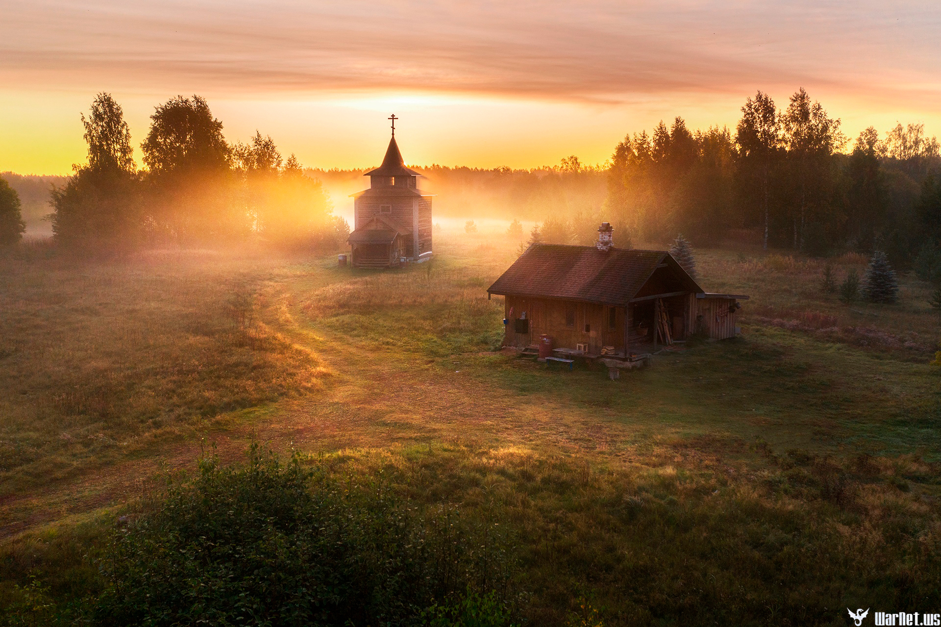
[(137, 169), (131, 134), (106, 93), (86, 118), (88, 163), (52, 191), (56, 244), (99, 254), (140, 247), (226, 246), (248, 239), (289, 249), (334, 248), (349, 227), (322, 185), (270, 137), (229, 143), (199, 96), (156, 107)]

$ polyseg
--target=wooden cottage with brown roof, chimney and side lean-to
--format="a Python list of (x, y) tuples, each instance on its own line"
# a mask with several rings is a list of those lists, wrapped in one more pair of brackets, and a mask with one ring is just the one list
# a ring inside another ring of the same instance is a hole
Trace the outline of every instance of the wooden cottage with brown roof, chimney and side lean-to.
[(557, 348), (628, 358), (700, 331), (739, 332), (738, 300), (710, 294), (665, 250), (616, 249), (607, 222), (596, 246), (534, 244), (487, 290), (505, 297), (504, 346), (549, 335)]

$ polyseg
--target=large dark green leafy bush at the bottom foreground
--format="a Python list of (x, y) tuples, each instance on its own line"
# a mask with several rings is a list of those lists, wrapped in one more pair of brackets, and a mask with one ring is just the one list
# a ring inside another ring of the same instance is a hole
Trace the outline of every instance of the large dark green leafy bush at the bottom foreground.
[(507, 580), (496, 528), (474, 531), (455, 510), (423, 512), (382, 486), (338, 483), (296, 455), (282, 465), (253, 444), (246, 466), (203, 458), (195, 479), (169, 481), (115, 531), (97, 619), (394, 625), (438, 604), (502, 603), (486, 596)]

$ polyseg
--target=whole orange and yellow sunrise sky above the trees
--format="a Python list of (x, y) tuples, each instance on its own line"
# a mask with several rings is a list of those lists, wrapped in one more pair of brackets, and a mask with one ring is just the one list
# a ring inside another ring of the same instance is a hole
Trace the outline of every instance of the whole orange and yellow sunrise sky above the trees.
[[(161, 3), (0, 0), (0, 171), (67, 173), (98, 91), (143, 140), (153, 106), (206, 97), (319, 168), (374, 165), (394, 112), (407, 161), (603, 163), (683, 116), (734, 126), (745, 97), (805, 87), (855, 137), (941, 135), (941, 4), (924, 2)], [(139, 151), (137, 153), (139, 163)]]

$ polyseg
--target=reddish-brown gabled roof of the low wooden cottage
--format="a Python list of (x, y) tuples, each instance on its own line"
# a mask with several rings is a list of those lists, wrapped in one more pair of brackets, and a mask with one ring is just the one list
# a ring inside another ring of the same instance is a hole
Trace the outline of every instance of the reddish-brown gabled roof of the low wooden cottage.
[(662, 264), (673, 268), (691, 292), (703, 291), (666, 250), (534, 244), (487, 292), (624, 307)]

